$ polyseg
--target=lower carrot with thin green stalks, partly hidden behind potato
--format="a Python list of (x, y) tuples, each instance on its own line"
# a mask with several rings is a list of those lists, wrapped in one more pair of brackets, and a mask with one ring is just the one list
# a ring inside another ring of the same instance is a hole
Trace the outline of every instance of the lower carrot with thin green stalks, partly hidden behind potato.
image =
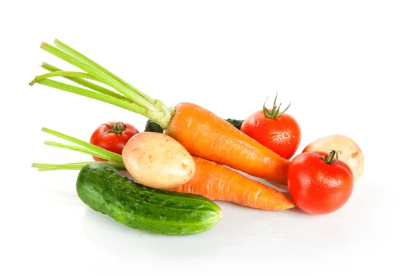
[[(122, 155), (50, 129), (43, 128), (42, 131), (74, 142), (80, 146), (57, 144), (56, 142), (46, 142), (47, 145), (67, 148), (89, 155), (98, 154), (109, 159), (105, 161), (107, 164), (110, 164), (118, 170), (126, 170)], [(170, 191), (203, 195), (203, 197), (211, 200), (231, 201), (242, 206), (262, 210), (286, 210), (295, 207), (295, 203), (293, 203), (292, 200), (274, 188), (249, 179), (249, 177), (245, 177), (235, 170), (217, 164), (216, 162), (211, 162), (196, 156), (193, 156), (193, 159), (196, 164), (196, 172), (192, 179), (181, 186), (170, 189)], [(76, 162), (71, 164), (35, 163), (32, 167), (39, 168), (39, 170), (42, 171), (80, 170), (83, 166), (90, 163), (91, 162)]]

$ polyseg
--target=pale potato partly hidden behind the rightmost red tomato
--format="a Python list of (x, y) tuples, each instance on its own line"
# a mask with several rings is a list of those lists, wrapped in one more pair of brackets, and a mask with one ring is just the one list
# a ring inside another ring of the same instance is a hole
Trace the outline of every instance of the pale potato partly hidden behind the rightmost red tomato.
[(354, 174), (354, 181), (357, 181), (363, 174), (364, 156), (358, 144), (345, 135), (328, 135), (321, 137), (310, 143), (303, 152), (322, 151), (329, 153), (330, 150), (341, 151), (339, 160), (345, 162)]

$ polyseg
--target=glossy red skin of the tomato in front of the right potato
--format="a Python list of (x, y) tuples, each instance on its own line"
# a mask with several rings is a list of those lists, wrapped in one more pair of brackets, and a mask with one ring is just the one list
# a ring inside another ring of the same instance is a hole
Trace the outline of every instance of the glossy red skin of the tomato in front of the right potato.
[(327, 164), (319, 155), (297, 155), (288, 168), (288, 188), (296, 206), (310, 214), (328, 214), (341, 208), (352, 195), (354, 176), (344, 162)]

